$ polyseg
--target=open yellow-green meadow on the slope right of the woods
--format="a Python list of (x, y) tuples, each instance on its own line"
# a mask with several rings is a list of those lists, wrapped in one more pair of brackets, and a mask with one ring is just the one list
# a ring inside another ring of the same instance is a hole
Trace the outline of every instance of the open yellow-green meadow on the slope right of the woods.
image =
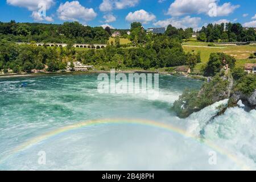
[[(207, 43), (197, 42), (195, 40), (189, 40), (183, 45), (189, 46), (207, 46)], [(248, 57), (251, 53), (256, 52), (256, 45), (246, 45), (246, 46), (216, 46), (224, 48), (214, 48), (214, 47), (187, 47), (183, 46), (185, 52), (201, 52), (201, 62), (196, 65), (195, 70), (200, 70), (202, 65), (206, 64), (209, 60), (210, 53), (213, 52), (225, 52), (228, 55), (234, 56), (237, 59), (237, 66), (242, 67), (245, 63), (256, 63), (256, 60), (250, 60)]]

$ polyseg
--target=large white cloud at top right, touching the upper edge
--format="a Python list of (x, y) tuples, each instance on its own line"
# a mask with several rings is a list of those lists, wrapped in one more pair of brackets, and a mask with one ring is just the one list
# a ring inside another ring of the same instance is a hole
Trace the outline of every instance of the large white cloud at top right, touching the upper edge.
[[(214, 4), (212, 4), (214, 3)], [(240, 5), (224, 3), (217, 5), (218, 0), (175, 0), (168, 9), (168, 15), (181, 16), (185, 14), (208, 14), (213, 6), (216, 5), (216, 16), (226, 16), (233, 13)], [(215, 16), (215, 15), (214, 15)]]

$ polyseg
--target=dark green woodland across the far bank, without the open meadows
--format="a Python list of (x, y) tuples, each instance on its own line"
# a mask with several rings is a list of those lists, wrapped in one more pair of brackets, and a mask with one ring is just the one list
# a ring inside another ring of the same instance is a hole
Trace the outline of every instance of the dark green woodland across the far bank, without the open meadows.
[[(240, 24), (226, 24), (226, 28), (224, 24), (214, 26), (209, 24), (206, 28), (202, 28), (199, 39), (202, 34), (205, 34), (204, 41), (216, 41), (225, 35), (227, 37), (225, 40), (230, 41), (230, 36), (235, 34), (235, 31), (239, 33), (236, 34), (236, 39), (232, 39), (233, 41), (245, 40), (245, 35), (249, 33), (250, 39), (246, 40), (255, 38), (255, 31), (251, 32), (251, 28), (245, 30)], [(14, 73), (18, 73), (47, 68), (48, 72), (55, 72), (65, 70), (68, 62), (81, 61), (84, 64), (98, 65), (102, 69), (149, 69), (188, 65), (193, 71), (196, 64), (201, 61), (200, 52), (185, 53), (181, 46), (184, 39), (191, 38), (193, 29), (175, 28), (171, 24), (167, 27), (165, 34), (155, 35), (147, 34), (141, 23), (133, 22), (130, 26), (131, 34), (128, 37), (131, 40), (129, 45), (121, 45), (117, 37), (114, 43), (111, 42), (101, 50), (80, 50), (73, 47), (74, 43), (107, 43), (113, 31), (115, 30), (109, 27), (93, 28), (78, 22), (0, 23), (0, 70), (7, 72), (11, 69)], [(17, 45), (15, 42), (31, 44)], [(46, 45), (37, 47), (35, 42), (67, 43), (68, 46), (65, 48), (49, 48)], [(228, 59), (227, 56), (225, 57)], [(233, 59), (230, 58), (230, 60)], [(206, 67), (203, 71), (204, 75), (213, 75), (214, 72), (208, 68)]]

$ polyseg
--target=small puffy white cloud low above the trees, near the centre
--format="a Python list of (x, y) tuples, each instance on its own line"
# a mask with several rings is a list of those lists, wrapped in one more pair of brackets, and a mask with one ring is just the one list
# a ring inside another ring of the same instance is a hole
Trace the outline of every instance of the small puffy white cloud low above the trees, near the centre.
[(130, 12), (125, 19), (128, 22), (148, 23), (154, 21), (156, 19), (156, 16), (154, 14), (148, 13), (145, 10), (138, 10), (134, 13)]

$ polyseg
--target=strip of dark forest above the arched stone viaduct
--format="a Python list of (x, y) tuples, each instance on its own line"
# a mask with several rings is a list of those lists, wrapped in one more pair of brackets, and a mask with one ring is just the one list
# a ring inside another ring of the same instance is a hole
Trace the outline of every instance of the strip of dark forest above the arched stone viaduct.
[(102, 43), (109, 33), (102, 27), (83, 26), (79, 22), (63, 24), (0, 22), (0, 39), (13, 42)]

